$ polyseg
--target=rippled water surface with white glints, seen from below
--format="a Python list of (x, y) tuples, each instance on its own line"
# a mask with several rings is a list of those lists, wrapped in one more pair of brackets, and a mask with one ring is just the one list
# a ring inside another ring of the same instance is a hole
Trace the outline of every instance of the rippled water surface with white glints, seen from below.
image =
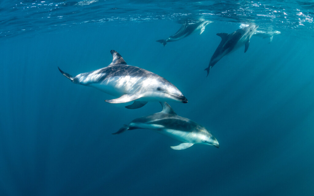
[(0, 36), (84, 23), (130, 24), (156, 19), (250, 22), (288, 32), (311, 32), (313, 10), (312, 1), (2, 1)]

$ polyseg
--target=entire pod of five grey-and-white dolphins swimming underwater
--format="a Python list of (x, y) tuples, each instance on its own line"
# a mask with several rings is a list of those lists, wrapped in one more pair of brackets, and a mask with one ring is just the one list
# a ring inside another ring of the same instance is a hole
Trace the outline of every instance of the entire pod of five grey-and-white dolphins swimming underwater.
[[(185, 23), (176, 34), (165, 40), (157, 40), (164, 46), (167, 42), (180, 40), (197, 30), (204, 31), (206, 25), (212, 21), (199, 21)], [(250, 38), (252, 35), (263, 38), (269, 37), (270, 41), (273, 35), (280, 34), (279, 31), (260, 31), (255, 24), (241, 24), (240, 29), (231, 34), (218, 33), (221, 42), (210, 59), (207, 76), (210, 69), (225, 55), (245, 46), (244, 52), (247, 51)], [(202, 125), (178, 116), (166, 101), (175, 101), (187, 103), (187, 98), (181, 91), (165, 78), (149, 72), (145, 69), (127, 65), (122, 56), (115, 50), (111, 50), (112, 62), (106, 67), (80, 73), (73, 77), (59, 71), (73, 83), (84, 86), (94, 87), (100, 91), (110, 94), (116, 98), (105, 100), (108, 103), (127, 103), (134, 101), (133, 104), (125, 106), (127, 109), (137, 109), (143, 107), (149, 101), (158, 101), (162, 105), (162, 111), (148, 116), (142, 116), (132, 120), (128, 125), (124, 125), (116, 133), (121, 134), (127, 130), (150, 129), (160, 134), (167, 135), (181, 144), (171, 146), (174, 150), (183, 150), (194, 144), (210, 145), (219, 148), (219, 142), (214, 135)]]

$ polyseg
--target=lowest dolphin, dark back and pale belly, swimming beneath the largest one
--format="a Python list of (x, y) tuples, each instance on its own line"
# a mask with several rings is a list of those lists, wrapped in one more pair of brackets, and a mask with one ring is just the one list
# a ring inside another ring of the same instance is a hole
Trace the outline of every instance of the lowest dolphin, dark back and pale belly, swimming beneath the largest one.
[(160, 104), (163, 108), (161, 112), (134, 119), (113, 134), (120, 134), (133, 129), (151, 129), (182, 142), (178, 146), (170, 146), (174, 150), (183, 150), (193, 144), (211, 145), (219, 148), (217, 139), (205, 127), (190, 119), (178, 116), (168, 103), (160, 102)]

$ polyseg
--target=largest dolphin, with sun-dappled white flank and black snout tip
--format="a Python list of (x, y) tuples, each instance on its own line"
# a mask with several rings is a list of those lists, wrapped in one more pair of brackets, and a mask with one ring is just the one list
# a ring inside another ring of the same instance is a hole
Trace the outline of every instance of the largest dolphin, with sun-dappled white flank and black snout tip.
[(80, 73), (73, 77), (59, 71), (75, 84), (95, 87), (110, 94), (116, 99), (105, 100), (108, 103), (133, 104), (127, 109), (143, 107), (148, 101), (175, 101), (187, 103), (187, 98), (171, 82), (145, 69), (127, 65), (122, 56), (115, 50), (110, 51), (112, 62), (107, 67), (95, 71)]

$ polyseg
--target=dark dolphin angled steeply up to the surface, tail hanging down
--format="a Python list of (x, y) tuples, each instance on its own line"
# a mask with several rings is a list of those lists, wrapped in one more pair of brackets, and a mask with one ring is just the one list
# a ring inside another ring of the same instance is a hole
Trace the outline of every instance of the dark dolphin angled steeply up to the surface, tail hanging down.
[(244, 52), (247, 51), (250, 44), (250, 38), (256, 31), (258, 26), (250, 24), (247, 27), (236, 30), (231, 34), (227, 33), (217, 33), (221, 37), (221, 42), (215, 50), (212, 58), (209, 61), (208, 67), (205, 69), (207, 71), (207, 76), (210, 69), (225, 55), (229, 54), (231, 51), (235, 51), (242, 45), (245, 45)]

